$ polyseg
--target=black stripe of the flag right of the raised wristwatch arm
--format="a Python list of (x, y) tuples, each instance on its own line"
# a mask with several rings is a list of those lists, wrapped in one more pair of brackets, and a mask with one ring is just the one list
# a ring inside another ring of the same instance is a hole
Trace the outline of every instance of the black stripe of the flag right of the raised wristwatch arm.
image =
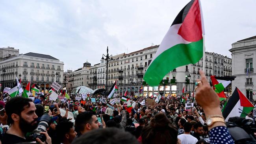
[(236, 105), (236, 103), (238, 101), (239, 101), (239, 94), (238, 94), (237, 87), (236, 87), (232, 96), (228, 100), (228, 103), (226, 104), (224, 111), (222, 112), (224, 119), (226, 119), (226, 117), (228, 117), (228, 114), (230, 114), (230, 112), (232, 111), (232, 109), (234, 108), (234, 106)]

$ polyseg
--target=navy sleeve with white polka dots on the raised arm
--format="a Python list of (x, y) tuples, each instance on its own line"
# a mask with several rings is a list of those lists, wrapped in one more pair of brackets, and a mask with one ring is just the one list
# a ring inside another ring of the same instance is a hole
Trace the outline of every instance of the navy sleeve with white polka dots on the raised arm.
[(224, 126), (213, 127), (209, 131), (211, 144), (234, 144), (228, 129)]

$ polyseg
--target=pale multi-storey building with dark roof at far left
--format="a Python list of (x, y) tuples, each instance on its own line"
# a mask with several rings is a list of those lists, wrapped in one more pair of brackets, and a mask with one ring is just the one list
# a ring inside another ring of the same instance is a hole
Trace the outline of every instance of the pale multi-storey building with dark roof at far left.
[(50, 55), (32, 52), (4, 57), (0, 61), (1, 83), (3, 87), (13, 87), (17, 77), (21, 78), (23, 88), (30, 81), (47, 93), (53, 81), (63, 84), (63, 65)]

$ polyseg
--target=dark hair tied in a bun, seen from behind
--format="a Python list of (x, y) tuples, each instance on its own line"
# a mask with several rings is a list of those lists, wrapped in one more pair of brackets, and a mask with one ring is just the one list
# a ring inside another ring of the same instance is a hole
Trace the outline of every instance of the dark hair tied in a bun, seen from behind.
[(143, 144), (176, 144), (177, 130), (163, 113), (156, 114), (150, 123), (142, 129)]

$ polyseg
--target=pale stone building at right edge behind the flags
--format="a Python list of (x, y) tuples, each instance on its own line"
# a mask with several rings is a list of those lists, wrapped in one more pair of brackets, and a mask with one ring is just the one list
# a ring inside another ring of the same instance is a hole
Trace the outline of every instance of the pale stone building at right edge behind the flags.
[(249, 99), (256, 99), (256, 36), (232, 44), (232, 89), (236, 87)]

